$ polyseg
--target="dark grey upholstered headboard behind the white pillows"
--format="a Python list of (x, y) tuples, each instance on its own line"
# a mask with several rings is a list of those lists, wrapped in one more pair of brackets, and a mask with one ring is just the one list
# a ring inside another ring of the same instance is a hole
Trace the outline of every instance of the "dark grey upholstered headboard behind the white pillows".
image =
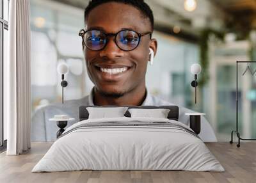
[[(89, 113), (86, 109), (86, 107), (120, 107), (120, 106), (80, 106), (79, 107), (79, 121), (87, 120)], [(170, 120), (179, 120), (179, 107), (178, 106), (125, 106), (129, 108), (141, 108), (141, 109), (157, 109), (157, 108), (164, 108), (164, 109), (170, 109), (170, 112), (168, 113), (168, 119)], [(124, 114), (126, 117), (131, 117), (131, 114), (127, 110)]]

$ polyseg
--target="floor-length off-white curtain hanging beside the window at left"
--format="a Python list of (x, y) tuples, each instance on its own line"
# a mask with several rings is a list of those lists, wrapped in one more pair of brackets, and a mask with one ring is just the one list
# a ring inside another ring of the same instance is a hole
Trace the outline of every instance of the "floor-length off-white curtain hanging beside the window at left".
[(30, 42), (29, 0), (10, 1), (8, 60), (4, 63), (4, 120), (8, 155), (30, 148)]

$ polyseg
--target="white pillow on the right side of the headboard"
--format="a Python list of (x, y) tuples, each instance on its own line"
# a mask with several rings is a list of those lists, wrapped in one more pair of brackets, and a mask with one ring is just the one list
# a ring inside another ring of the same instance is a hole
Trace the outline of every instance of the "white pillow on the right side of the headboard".
[(131, 118), (133, 117), (150, 117), (150, 118), (167, 118), (170, 109), (138, 109), (132, 108), (128, 109), (131, 113)]

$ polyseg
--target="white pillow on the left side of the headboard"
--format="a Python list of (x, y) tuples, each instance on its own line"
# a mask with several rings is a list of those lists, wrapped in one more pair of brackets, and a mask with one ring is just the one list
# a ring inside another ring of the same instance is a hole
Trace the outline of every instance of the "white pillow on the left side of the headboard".
[(128, 107), (86, 107), (89, 117), (93, 118), (118, 118), (125, 117)]

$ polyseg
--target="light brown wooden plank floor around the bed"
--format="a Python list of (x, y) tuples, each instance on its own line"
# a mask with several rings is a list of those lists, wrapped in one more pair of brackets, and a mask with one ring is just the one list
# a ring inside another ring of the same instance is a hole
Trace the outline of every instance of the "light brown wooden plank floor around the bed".
[(0, 182), (256, 182), (256, 143), (243, 142), (241, 147), (229, 143), (206, 143), (225, 172), (196, 171), (64, 171), (31, 173), (33, 166), (52, 143), (32, 143), (22, 155), (0, 154)]

